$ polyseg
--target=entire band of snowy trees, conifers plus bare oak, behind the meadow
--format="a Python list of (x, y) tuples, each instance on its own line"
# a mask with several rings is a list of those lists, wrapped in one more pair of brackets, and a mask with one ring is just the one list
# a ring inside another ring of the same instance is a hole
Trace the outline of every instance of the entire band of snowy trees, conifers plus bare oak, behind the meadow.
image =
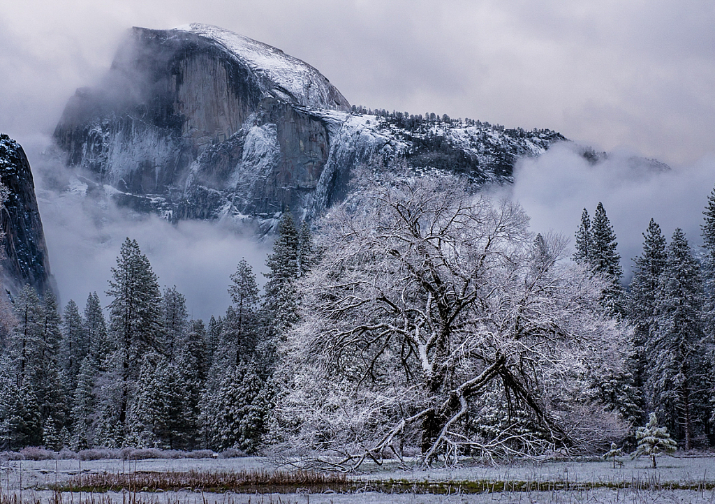
[(241, 260), (210, 320), (129, 237), (97, 286), (109, 305), (29, 286), (4, 302), (0, 450), (355, 470), (713, 448), (715, 191), (703, 204), (702, 247), (651, 219), (626, 285), (602, 204), (573, 238), (535, 234), (456, 175), (363, 170), (310, 225), (284, 212), (265, 285)]

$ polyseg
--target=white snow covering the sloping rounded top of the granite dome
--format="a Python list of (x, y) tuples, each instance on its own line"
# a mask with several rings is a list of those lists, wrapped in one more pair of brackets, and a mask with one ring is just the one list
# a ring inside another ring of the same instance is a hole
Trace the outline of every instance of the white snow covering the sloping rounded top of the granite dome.
[(275, 87), (270, 92), (277, 98), (321, 109), (350, 107), (317, 69), (280, 49), (209, 24), (186, 24), (174, 30), (197, 34), (225, 46), (255, 74), (272, 81)]

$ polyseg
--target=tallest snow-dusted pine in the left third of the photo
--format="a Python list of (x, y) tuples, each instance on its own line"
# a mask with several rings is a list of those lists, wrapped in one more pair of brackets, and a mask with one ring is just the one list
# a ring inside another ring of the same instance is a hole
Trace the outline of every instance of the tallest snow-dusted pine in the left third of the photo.
[(140, 359), (149, 352), (161, 352), (164, 339), (162, 295), (157, 275), (136, 240), (127, 238), (122, 244), (117, 266), (112, 268), (107, 295), (114, 298), (109, 304), (109, 328), (121, 362), (118, 420), (123, 428), (130, 388), (139, 377)]

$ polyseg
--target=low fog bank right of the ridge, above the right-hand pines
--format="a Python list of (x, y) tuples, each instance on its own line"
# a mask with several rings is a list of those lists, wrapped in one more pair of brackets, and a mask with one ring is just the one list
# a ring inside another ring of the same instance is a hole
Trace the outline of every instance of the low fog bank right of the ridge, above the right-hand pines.
[(676, 227), (683, 229), (699, 252), (702, 212), (715, 185), (715, 157), (659, 170), (632, 152), (614, 152), (590, 164), (573, 144), (564, 143), (536, 159), (523, 159), (514, 178), (511, 195), (531, 217), (531, 228), (561, 232), (572, 247), (583, 208), (593, 218), (596, 205), (603, 202), (628, 280), (651, 217), (669, 241)]

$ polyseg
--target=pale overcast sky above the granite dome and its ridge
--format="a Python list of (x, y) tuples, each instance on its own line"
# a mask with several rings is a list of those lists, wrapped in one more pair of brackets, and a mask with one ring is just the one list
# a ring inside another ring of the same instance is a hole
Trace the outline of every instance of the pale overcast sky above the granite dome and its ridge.
[(715, 2), (0, 0), (0, 131), (50, 132), (129, 26), (217, 24), (352, 104), (546, 127), (671, 164), (715, 151)]

